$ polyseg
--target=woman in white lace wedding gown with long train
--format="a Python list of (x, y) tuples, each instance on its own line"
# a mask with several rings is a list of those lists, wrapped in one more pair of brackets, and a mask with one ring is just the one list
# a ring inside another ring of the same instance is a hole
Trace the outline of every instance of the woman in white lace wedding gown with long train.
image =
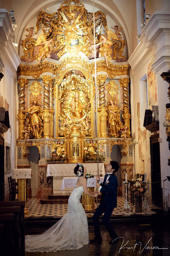
[(26, 252), (73, 250), (89, 243), (87, 216), (79, 199), (82, 192), (92, 197), (97, 197), (98, 193), (88, 191), (87, 180), (84, 177), (86, 172), (86, 168), (78, 163), (74, 168), (74, 173), (78, 177), (77, 184), (68, 198), (68, 211), (41, 235), (26, 236)]

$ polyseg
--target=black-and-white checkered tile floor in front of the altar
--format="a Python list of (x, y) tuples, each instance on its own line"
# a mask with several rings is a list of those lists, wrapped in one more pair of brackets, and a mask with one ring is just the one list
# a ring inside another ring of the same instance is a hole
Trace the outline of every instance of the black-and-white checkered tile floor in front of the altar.
[[(135, 207), (132, 204), (129, 204), (131, 211), (128, 209), (122, 209), (124, 206), (124, 200), (123, 197), (118, 196), (117, 200), (117, 208), (114, 209), (113, 214), (114, 215), (133, 215), (135, 214)], [(29, 211), (29, 217), (62, 217), (65, 215), (68, 209), (68, 204), (40, 204), (40, 200), (36, 198), (28, 198), (27, 202), (27, 209)], [(159, 207), (156, 207), (152, 204), (150, 204), (150, 209), (159, 209)], [(142, 215), (146, 214), (154, 214), (153, 210), (144, 210)], [(91, 213), (86, 213), (87, 216), (91, 216)]]

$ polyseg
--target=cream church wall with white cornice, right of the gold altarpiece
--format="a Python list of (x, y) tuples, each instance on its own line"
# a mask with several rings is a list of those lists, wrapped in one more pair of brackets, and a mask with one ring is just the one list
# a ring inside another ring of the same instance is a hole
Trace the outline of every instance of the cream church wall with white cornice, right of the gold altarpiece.
[[(141, 94), (139, 90), (140, 79), (144, 74), (147, 74), (148, 86), (148, 108), (152, 110), (152, 105), (159, 106), (159, 137), (160, 140), (160, 159), (161, 159), (161, 180), (166, 179), (170, 175), (170, 166), (167, 165), (167, 159), (170, 157), (167, 136), (163, 122), (165, 120), (167, 98), (167, 82), (161, 78), (162, 72), (167, 72), (170, 69), (170, 11), (157, 11), (153, 14), (147, 25), (142, 30), (141, 41), (135, 51), (129, 58), (131, 66), (130, 77), (133, 81), (133, 116), (132, 122), (136, 140), (139, 144), (136, 146), (136, 166), (141, 167), (141, 160), (144, 161), (144, 169), (150, 172), (150, 132), (141, 131), (139, 129), (139, 114), (140, 103), (142, 104)], [(151, 72), (151, 73), (149, 73)], [(150, 78), (151, 76), (151, 78)], [(141, 125), (141, 124), (140, 124)], [(145, 134), (144, 134), (145, 133)], [(141, 154), (142, 152), (142, 154)], [(144, 157), (143, 157), (144, 156)], [(161, 184), (163, 188), (163, 183)], [(170, 207), (170, 183), (166, 181), (165, 186), (165, 205)]]

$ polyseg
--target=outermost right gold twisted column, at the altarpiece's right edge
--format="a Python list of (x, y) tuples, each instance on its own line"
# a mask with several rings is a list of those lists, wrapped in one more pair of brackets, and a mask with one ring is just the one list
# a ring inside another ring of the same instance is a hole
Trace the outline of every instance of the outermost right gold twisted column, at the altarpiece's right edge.
[(123, 120), (124, 125), (128, 127), (127, 137), (130, 137), (130, 113), (129, 113), (129, 78), (119, 79), (120, 86), (123, 87)]

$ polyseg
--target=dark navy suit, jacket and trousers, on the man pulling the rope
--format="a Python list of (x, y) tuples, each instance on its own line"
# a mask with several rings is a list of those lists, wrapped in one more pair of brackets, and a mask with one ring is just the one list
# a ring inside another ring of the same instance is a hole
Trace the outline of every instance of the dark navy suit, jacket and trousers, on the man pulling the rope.
[(102, 218), (102, 224), (107, 228), (111, 239), (114, 239), (117, 236), (112, 225), (109, 223), (109, 220), (113, 212), (113, 209), (117, 207), (118, 181), (116, 175), (112, 173), (106, 183), (107, 177), (108, 175), (106, 174), (103, 183), (100, 183), (100, 186), (102, 186), (102, 188), (100, 189), (100, 192), (102, 192), (102, 197), (100, 205), (96, 209), (93, 216), (94, 233), (95, 238), (101, 238), (99, 217), (100, 215), (102, 215), (103, 212), (105, 212)]

